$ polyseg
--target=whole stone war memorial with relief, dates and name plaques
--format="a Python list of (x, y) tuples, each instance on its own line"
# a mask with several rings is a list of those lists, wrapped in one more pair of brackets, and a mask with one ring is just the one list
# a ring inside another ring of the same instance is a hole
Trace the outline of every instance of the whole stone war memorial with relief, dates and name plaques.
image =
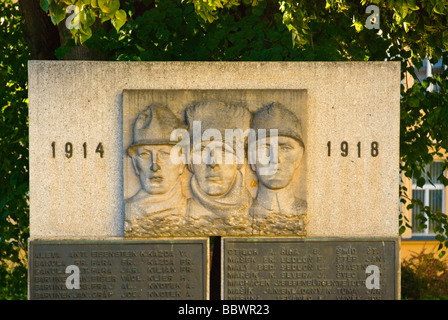
[(399, 98), (398, 62), (30, 61), (29, 298), (399, 299)]

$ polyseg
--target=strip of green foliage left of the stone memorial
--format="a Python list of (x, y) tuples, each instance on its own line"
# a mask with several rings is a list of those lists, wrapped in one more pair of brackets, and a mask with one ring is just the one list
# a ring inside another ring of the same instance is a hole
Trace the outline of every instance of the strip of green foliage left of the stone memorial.
[(29, 59), (17, 5), (0, 5), (0, 297), (26, 298)]

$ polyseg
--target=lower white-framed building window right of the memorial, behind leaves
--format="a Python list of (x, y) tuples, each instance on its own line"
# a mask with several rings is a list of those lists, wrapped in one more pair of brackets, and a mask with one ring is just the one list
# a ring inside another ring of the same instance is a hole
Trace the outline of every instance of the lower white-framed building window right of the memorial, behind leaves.
[[(426, 183), (420, 188), (417, 186), (417, 180), (412, 180), (412, 199), (420, 200), (424, 206), (429, 206), (432, 211), (442, 211), (445, 208), (444, 186), (438, 177), (442, 174), (442, 163), (433, 162), (427, 166), (426, 171), (429, 172), (430, 179), (426, 179)], [(431, 183), (432, 181), (432, 183)], [(416, 219), (420, 214), (420, 207), (415, 205), (412, 209), (412, 234), (416, 236), (434, 235), (434, 223), (426, 222), (426, 228), (418, 230), (419, 221)], [(425, 218), (428, 218), (425, 214)]]

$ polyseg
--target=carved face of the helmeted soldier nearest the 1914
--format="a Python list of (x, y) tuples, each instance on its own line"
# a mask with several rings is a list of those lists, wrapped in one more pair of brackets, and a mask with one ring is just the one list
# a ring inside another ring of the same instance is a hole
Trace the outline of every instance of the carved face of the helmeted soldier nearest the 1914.
[(173, 164), (170, 159), (171, 146), (139, 146), (132, 157), (135, 173), (143, 190), (151, 195), (170, 191), (182, 174), (184, 165)]

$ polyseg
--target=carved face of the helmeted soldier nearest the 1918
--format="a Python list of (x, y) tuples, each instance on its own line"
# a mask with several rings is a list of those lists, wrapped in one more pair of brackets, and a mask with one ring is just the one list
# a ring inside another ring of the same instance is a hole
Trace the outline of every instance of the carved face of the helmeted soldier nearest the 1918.
[[(300, 165), (304, 151), (303, 147), (295, 139), (285, 136), (278, 137), (278, 154), (274, 152), (275, 148), (271, 147), (269, 138), (260, 139), (257, 148), (260, 146), (265, 148), (263, 152), (266, 153), (266, 156), (269, 156), (270, 163), (262, 164), (256, 161), (255, 165), (251, 165), (257, 173), (259, 182), (269, 189), (285, 188), (291, 182), (295, 170)], [(269, 169), (273, 167), (273, 164), (277, 165), (277, 169)], [(263, 169), (264, 171), (262, 171)], [(272, 172), (272, 174), (265, 174), (266, 172)]]

